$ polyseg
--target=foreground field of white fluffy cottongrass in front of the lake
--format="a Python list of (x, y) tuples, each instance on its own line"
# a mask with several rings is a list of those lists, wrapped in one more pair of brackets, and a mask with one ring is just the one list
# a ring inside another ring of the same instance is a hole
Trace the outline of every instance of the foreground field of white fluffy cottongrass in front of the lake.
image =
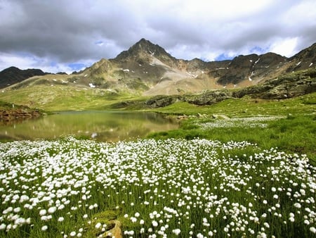
[(249, 142), (0, 144), (0, 237), (316, 237), (316, 169)]

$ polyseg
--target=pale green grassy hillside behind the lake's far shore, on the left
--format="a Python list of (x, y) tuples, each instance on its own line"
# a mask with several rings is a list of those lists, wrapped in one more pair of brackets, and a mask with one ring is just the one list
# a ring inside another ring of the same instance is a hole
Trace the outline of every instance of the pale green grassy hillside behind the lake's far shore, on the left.
[(80, 111), (105, 109), (131, 99), (129, 94), (117, 94), (107, 89), (88, 89), (63, 85), (34, 85), (0, 93), (0, 101), (20, 104), (46, 111)]

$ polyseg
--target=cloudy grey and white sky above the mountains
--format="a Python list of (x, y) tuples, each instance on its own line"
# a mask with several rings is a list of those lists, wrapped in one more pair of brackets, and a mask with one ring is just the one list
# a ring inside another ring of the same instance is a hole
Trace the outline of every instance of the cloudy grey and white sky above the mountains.
[(72, 73), (141, 38), (204, 61), (316, 42), (315, 0), (0, 0), (0, 18), (0, 71)]

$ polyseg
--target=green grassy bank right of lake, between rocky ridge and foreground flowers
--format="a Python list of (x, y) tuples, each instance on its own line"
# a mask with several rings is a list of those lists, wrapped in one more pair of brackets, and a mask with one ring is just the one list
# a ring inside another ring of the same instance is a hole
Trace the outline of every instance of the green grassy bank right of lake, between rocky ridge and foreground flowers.
[[(212, 106), (195, 106), (184, 102), (155, 111), (174, 115), (199, 115), (180, 123), (180, 129), (150, 134), (150, 138), (205, 138), (220, 142), (247, 141), (263, 149), (277, 147), (289, 153), (307, 154), (316, 165), (316, 94), (294, 99), (266, 101), (256, 99), (229, 99)], [(213, 115), (213, 116), (212, 116)], [(219, 115), (218, 118), (213, 118)], [(221, 118), (225, 115), (230, 119)], [(270, 116), (278, 116), (270, 120)], [(237, 123), (232, 125), (236, 119)], [(243, 119), (242, 119), (243, 118)], [(243, 120), (253, 118), (254, 125)], [(256, 125), (256, 118), (258, 121)], [(265, 121), (264, 119), (267, 118)], [(263, 120), (263, 122), (261, 121)], [(218, 126), (216, 124), (228, 124)], [(210, 126), (204, 126), (204, 125)], [(261, 126), (264, 125), (264, 126)]]

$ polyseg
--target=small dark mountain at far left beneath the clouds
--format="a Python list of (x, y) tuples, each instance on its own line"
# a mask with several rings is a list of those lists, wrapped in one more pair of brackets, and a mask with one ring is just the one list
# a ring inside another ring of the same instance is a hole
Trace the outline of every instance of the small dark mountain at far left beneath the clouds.
[(20, 70), (20, 68), (9, 67), (0, 72), (0, 88), (8, 87), (9, 85), (26, 80), (29, 77), (35, 75), (46, 75), (42, 70), (39, 69), (27, 69)]

